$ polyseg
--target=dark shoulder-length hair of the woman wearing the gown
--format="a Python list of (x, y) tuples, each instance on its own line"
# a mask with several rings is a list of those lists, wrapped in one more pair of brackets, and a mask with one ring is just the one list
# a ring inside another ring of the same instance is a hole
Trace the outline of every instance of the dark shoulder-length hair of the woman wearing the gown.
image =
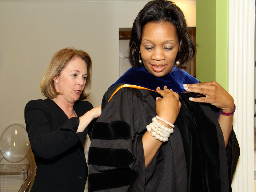
[(176, 29), (180, 43), (180, 51), (177, 53), (176, 61), (180, 61), (181, 67), (191, 60), (196, 52), (196, 44), (188, 35), (187, 23), (183, 12), (172, 1), (155, 0), (148, 2), (140, 10), (133, 22), (131, 39), (129, 43), (129, 60), (132, 67), (139, 67), (139, 51), (144, 26), (149, 22), (170, 22)]

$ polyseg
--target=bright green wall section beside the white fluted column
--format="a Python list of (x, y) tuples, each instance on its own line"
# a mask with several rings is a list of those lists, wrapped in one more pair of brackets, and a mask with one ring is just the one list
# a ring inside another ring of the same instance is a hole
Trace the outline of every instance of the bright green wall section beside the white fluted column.
[(196, 0), (196, 78), (228, 87), (228, 0)]

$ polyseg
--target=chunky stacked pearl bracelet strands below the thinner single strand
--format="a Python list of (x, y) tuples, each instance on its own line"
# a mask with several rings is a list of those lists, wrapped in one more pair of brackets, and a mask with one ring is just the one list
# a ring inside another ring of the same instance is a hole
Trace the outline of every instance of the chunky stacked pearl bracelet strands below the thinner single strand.
[(161, 125), (161, 123), (157, 121), (156, 117), (152, 119), (152, 123), (147, 125), (146, 128), (148, 132), (151, 132), (153, 137), (163, 142), (168, 141), (170, 134), (173, 133), (173, 128), (168, 128)]

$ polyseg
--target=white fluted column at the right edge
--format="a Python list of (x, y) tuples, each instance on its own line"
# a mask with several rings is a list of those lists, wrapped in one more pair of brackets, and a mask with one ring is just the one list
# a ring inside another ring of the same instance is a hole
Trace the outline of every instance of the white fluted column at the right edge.
[(229, 0), (228, 90), (236, 104), (233, 127), (241, 150), (233, 192), (254, 192), (254, 20), (255, 0)]

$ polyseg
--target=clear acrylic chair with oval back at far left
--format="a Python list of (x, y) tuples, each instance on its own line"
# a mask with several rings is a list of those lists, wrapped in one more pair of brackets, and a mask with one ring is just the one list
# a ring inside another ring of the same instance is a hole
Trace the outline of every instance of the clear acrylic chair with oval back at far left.
[(26, 180), (33, 166), (31, 156), (29, 156), (30, 151), (28, 134), (22, 124), (12, 124), (4, 130), (0, 137), (2, 156), (0, 159), (0, 181), (2, 183), (4, 180), (10, 180), (10, 182), (5, 182), (6, 185), (14, 185), (15, 177), (18, 175), (23, 177), (23, 181), (20, 182)]

